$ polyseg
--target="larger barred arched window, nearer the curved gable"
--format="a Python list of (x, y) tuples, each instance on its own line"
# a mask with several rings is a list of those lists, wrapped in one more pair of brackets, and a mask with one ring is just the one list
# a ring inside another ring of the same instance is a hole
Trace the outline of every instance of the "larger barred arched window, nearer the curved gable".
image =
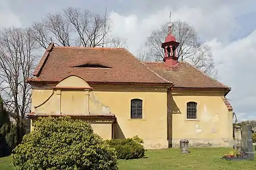
[(131, 118), (142, 118), (142, 100), (131, 100)]

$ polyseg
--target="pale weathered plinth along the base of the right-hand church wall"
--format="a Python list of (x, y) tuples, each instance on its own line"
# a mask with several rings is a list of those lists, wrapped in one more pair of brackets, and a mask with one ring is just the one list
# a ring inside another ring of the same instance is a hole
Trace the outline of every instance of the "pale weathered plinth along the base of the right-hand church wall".
[[(188, 139), (189, 147), (233, 147), (234, 140), (228, 138), (220, 139)], [(180, 147), (180, 139), (172, 139), (172, 147)]]

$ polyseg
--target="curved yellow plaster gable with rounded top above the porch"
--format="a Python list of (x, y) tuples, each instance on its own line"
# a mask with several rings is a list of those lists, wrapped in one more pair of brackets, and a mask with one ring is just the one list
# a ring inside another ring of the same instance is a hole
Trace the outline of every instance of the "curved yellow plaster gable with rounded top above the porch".
[[(46, 95), (49, 95), (46, 90)], [(32, 100), (40, 100), (40, 104), (35, 107), (36, 114), (65, 114), (65, 115), (86, 115), (86, 114), (109, 114), (110, 108), (96, 99), (92, 88), (84, 79), (71, 75), (61, 80), (53, 87), (52, 94), (46, 98), (41, 97), (44, 92), (40, 90), (40, 95), (33, 91)], [(44, 100), (42, 100), (44, 99)]]

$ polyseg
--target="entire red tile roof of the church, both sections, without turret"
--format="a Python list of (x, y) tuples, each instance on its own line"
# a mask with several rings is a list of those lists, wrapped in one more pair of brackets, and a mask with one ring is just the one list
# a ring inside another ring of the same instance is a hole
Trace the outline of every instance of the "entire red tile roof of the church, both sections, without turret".
[[(89, 66), (89, 67), (88, 67)], [(59, 82), (69, 75), (89, 83), (157, 83), (179, 88), (225, 88), (187, 62), (140, 62), (125, 48), (63, 47), (50, 44), (28, 82)]]

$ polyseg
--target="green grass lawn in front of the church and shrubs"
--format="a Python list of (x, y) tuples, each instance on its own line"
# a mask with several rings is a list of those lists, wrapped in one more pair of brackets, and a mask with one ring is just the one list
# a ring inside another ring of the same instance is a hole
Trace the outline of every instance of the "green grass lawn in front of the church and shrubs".
[[(190, 148), (189, 154), (180, 154), (179, 149), (148, 150), (146, 158), (137, 160), (119, 160), (119, 169), (255, 169), (255, 160), (227, 161), (220, 159), (230, 148)], [(0, 169), (14, 169), (10, 157), (0, 158)]]

